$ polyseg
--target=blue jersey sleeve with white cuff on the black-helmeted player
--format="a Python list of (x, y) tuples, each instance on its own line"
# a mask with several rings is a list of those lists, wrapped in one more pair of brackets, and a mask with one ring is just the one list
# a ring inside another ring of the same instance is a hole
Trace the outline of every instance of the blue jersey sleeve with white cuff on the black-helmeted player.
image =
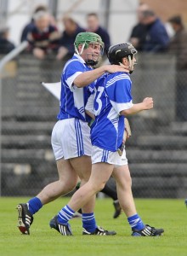
[(117, 113), (133, 107), (131, 84), (131, 79), (125, 73), (120, 73), (106, 83), (106, 93), (109, 96), (112, 107), (115, 108)]

